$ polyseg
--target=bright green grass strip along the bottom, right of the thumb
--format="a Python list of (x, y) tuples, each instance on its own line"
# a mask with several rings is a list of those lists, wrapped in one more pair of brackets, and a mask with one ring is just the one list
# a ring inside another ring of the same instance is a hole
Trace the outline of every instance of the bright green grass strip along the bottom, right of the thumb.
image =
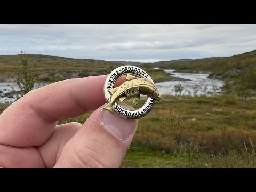
[(230, 151), (229, 155), (207, 155), (180, 151), (167, 154), (164, 150), (132, 145), (126, 153), (121, 167), (255, 167), (255, 156)]

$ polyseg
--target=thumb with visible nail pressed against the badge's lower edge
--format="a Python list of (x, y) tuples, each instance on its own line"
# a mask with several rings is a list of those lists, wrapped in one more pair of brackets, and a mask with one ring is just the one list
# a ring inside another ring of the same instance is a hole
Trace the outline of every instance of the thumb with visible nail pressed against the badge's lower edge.
[(120, 167), (138, 127), (102, 106), (63, 147), (55, 167)]

